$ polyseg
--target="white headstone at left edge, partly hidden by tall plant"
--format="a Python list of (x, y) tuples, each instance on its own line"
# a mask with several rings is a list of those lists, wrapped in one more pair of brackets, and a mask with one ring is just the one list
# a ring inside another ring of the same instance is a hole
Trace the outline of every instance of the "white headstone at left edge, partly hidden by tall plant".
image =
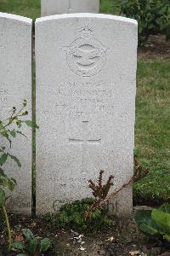
[[(29, 103), (26, 119), (31, 119), (31, 20), (0, 13), (0, 119), (7, 119), (11, 109), (22, 107), (25, 99)], [(30, 214), (31, 129), (25, 126), (24, 132), (27, 138), (13, 138), (9, 149), (20, 159), (21, 168), (10, 160), (4, 169), (17, 181), (16, 189), (7, 200), (8, 210)]]

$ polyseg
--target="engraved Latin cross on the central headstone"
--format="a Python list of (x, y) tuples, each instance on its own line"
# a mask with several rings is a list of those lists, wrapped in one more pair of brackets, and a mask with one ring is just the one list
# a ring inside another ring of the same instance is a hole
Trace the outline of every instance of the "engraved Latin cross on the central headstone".
[(88, 139), (88, 121), (82, 121), (82, 138), (70, 138), (69, 143), (81, 143), (82, 144), (82, 172), (85, 168), (85, 155), (88, 144), (99, 144), (101, 138)]

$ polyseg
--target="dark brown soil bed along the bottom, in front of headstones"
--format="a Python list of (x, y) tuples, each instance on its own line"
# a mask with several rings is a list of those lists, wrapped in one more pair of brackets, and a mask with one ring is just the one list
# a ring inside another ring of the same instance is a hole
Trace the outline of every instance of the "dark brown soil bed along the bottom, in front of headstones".
[[(138, 207), (141, 208), (141, 207)], [(145, 208), (145, 207), (142, 207)], [(148, 207), (146, 207), (148, 208)], [(135, 212), (137, 207), (134, 208)], [(44, 218), (25, 218), (10, 215), (13, 241), (21, 236), (23, 228), (31, 229), (35, 236), (48, 237), (53, 246), (46, 256), (170, 256), (170, 246), (161, 241), (150, 241), (136, 227), (133, 219), (116, 219), (116, 228), (104, 230), (95, 236), (86, 236), (77, 233), (77, 230), (54, 230)], [(8, 241), (6, 231), (1, 233), (1, 242)], [(1, 248), (1, 247), (0, 247)], [(10, 256), (18, 252), (13, 251)], [(4, 250), (0, 255), (7, 256)]]

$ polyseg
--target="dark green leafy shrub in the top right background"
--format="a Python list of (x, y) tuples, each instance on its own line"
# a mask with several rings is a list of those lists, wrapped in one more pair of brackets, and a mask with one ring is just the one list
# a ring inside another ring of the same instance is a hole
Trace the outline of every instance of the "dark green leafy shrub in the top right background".
[(170, 38), (169, 0), (122, 0), (122, 13), (138, 20), (139, 43), (156, 33), (167, 33)]

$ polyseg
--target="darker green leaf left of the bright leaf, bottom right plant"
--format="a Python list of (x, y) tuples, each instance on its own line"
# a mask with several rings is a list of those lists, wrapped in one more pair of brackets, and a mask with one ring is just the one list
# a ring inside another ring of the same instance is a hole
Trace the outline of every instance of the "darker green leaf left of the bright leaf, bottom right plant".
[(156, 222), (151, 218), (151, 212), (150, 210), (139, 210), (134, 218), (139, 230), (153, 236), (159, 234), (159, 229)]

